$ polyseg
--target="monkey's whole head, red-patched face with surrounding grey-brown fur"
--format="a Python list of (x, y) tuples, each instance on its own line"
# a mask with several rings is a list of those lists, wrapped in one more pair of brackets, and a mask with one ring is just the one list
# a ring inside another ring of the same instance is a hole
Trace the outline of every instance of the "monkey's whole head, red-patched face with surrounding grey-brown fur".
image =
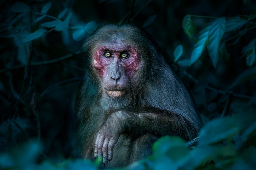
[(148, 33), (129, 24), (101, 26), (84, 44), (90, 72), (110, 98), (122, 98), (144, 85), (149, 76), (145, 72), (158, 60), (156, 47)]

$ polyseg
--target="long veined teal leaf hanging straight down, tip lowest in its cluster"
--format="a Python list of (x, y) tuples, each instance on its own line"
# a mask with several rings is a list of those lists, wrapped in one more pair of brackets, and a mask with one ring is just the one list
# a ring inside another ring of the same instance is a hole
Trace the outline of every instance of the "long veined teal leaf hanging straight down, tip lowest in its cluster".
[(211, 29), (209, 31), (208, 38), (208, 52), (213, 63), (214, 68), (216, 68), (219, 59), (219, 47), (220, 40), (225, 32), (226, 19), (225, 17), (218, 18), (211, 23)]

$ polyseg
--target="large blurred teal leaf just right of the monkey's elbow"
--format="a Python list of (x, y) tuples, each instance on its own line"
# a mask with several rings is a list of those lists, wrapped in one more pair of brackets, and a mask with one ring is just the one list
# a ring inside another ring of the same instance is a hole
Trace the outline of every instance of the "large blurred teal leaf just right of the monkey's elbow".
[(222, 140), (232, 141), (233, 136), (239, 132), (236, 119), (232, 117), (222, 117), (211, 120), (200, 130), (198, 145), (213, 144)]

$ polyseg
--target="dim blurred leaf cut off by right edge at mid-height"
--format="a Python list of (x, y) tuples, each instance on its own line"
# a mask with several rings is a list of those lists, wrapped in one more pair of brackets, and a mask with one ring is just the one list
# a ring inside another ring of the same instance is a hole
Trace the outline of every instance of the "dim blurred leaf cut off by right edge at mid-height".
[(248, 80), (256, 79), (256, 67), (249, 68), (240, 74), (229, 87), (230, 89), (237, 86), (238, 84), (244, 83)]

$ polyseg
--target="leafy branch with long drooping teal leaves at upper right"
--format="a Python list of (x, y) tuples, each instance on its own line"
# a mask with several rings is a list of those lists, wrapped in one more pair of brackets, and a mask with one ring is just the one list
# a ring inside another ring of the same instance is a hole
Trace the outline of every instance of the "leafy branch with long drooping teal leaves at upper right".
[[(201, 30), (198, 32), (196, 38), (193, 36), (196, 32), (196, 25), (192, 21), (191, 17), (203, 17), (203, 18), (211, 18), (210, 22), (206, 23)], [(183, 18), (182, 27), (184, 32), (189, 36), (189, 38), (195, 41), (193, 46), (193, 51), (191, 54), (190, 59), (181, 60), (177, 63), (182, 66), (191, 66), (195, 63), (202, 55), (205, 48), (208, 48), (208, 53), (213, 63), (214, 68), (216, 68), (218, 63), (219, 54), (223, 58), (224, 61), (229, 60), (229, 52), (226, 48), (226, 41), (230, 41), (234, 38), (241, 37), (251, 29), (255, 29), (256, 22), (253, 20), (256, 18), (255, 13), (251, 13), (250, 16), (247, 18), (242, 17), (209, 17), (209, 16), (198, 16), (198, 15), (186, 15)], [(246, 26), (245, 26), (246, 25)], [(250, 25), (254, 25), (249, 27)], [(243, 26), (245, 29), (239, 31)], [(231, 32), (231, 31), (239, 31), (238, 35), (235, 35), (232, 38), (227, 40), (221, 39), (224, 34)], [(236, 44), (239, 41), (235, 41), (232, 45)], [(230, 44), (231, 45), (231, 44)], [(248, 67), (252, 67), (255, 62), (255, 44), (251, 44), (250, 47), (246, 46), (247, 48), (242, 52), (243, 56), (246, 58), (246, 64)], [(180, 56), (179, 56), (180, 57)], [(175, 59), (178, 58), (175, 56)], [(176, 59), (177, 61), (178, 59)]]

